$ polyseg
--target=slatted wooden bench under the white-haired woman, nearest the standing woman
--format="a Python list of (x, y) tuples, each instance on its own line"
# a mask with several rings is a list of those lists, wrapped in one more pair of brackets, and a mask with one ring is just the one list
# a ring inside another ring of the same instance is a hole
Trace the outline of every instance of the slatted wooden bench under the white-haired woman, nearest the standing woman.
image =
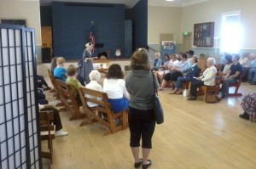
[[(83, 110), (86, 115), (84, 121), (80, 126), (93, 124), (98, 121), (105, 127), (108, 127), (106, 134), (119, 132), (125, 130), (128, 127), (128, 110), (121, 111), (119, 113), (113, 113), (111, 105), (108, 103), (108, 94), (91, 90), (85, 87), (79, 87), (79, 95), (83, 103)], [(96, 104), (94, 107), (89, 107), (88, 103)], [(102, 119), (102, 115), (108, 117), (107, 120)], [(121, 124), (115, 124), (115, 121), (119, 118)]]

